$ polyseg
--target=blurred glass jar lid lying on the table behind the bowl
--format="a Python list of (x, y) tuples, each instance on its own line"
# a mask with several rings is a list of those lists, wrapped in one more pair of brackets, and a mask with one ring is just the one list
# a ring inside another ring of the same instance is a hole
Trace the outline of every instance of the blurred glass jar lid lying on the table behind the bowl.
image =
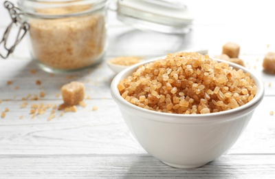
[(118, 19), (142, 30), (168, 34), (190, 31), (194, 18), (177, 0), (118, 0)]

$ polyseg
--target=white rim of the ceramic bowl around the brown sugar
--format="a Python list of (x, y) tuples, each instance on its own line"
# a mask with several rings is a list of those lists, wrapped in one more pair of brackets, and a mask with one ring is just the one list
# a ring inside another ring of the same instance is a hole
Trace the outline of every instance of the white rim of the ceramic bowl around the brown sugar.
[[(259, 105), (259, 103), (261, 103), (261, 101), (263, 100), (263, 96), (265, 93), (265, 89), (263, 87), (263, 83), (260, 81), (259, 78), (257, 78), (250, 70), (248, 70), (246, 67), (243, 67), (241, 65), (237, 65), (236, 63), (232, 63), (230, 61), (224, 61), (221, 59), (214, 59), (214, 58), (210, 58), (213, 60), (216, 60), (218, 62), (223, 62), (223, 63), (228, 63), (230, 66), (236, 68), (237, 70), (241, 69), (244, 72), (248, 72), (250, 73), (251, 78), (254, 79), (254, 83), (257, 87), (257, 92), (256, 95), (254, 96), (254, 98), (252, 99), (252, 101), (246, 103), (245, 105), (242, 105), (240, 107), (236, 107), (234, 109), (229, 109), (223, 112), (215, 112), (215, 113), (209, 113), (209, 114), (171, 114), (171, 113), (166, 113), (166, 112), (156, 112), (150, 109), (144, 109), (142, 107), (138, 107), (136, 105), (133, 105), (132, 103), (129, 103), (128, 101), (126, 101), (124, 98), (122, 98), (122, 96), (120, 95), (120, 92), (118, 90), (118, 83), (120, 82), (120, 80), (126, 78), (126, 76), (131, 75), (135, 70), (137, 70), (138, 67), (140, 67), (140, 65), (144, 65), (146, 63), (151, 63), (153, 61), (157, 61), (158, 59), (163, 59), (166, 56), (161, 56), (158, 58), (153, 58), (153, 59), (148, 59), (146, 61), (142, 61), (140, 63), (137, 63), (135, 65), (132, 65), (130, 67), (127, 67), (125, 70), (122, 70), (122, 72), (118, 73), (115, 78), (113, 78), (113, 81), (111, 82), (111, 96), (113, 97), (113, 99), (115, 100), (116, 103), (120, 103), (123, 104), (124, 106), (127, 107), (131, 107), (131, 109), (133, 110), (137, 110), (139, 112), (148, 114), (148, 115), (154, 115), (154, 116), (163, 116), (164, 118), (160, 119), (157, 118), (155, 120), (162, 120), (163, 122), (171, 122), (170, 118), (174, 118), (174, 120), (181, 120), (184, 121), (184, 119), (188, 119), (188, 121), (190, 121), (190, 118), (192, 119), (198, 119), (198, 120), (207, 120), (208, 119), (215, 119), (215, 118), (221, 118), (221, 116), (228, 116), (228, 114), (234, 114), (233, 116), (238, 116), (240, 115), (241, 112), (243, 111), (253, 111), (254, 108), (256, 108), (256, 106)], [(246, 114), (247, 112), (245, 112)], [(230, 116), (230, 118), (234, 118), (233, 116)], [(183, 118), (184, 117), (184, 118)], [(179, 122), (179, 121), (174, 121), (174, 122)], [(189, 123), (189, 122), (188, 122)]]

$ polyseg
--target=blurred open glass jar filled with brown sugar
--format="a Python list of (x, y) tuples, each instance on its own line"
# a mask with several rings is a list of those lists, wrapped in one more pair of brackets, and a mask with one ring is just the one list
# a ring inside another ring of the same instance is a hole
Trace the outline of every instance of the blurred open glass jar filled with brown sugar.
[(80, 70), (107, 48), (108, 0), (19, 0), (30, 25), (30, 54), (47, 72)]

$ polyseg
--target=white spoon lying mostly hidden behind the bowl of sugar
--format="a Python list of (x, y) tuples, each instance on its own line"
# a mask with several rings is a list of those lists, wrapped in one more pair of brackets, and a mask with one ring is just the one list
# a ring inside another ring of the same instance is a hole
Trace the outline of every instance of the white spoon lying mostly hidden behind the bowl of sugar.
[[(207, 49), (200, 49), (200, 50), (184, 50), (184, 52), (197, 52), (199, 54), (208, 54), (208, 50)], [(163, 59), (165, 56), (159, 56), (157, 58), (154, 59)], [(111, 62), (112, 59), (109, 59), (107, 61), (107, 65), (108, 67), (113, 70), (113, 72), (115, 72), (116, 74), (118, 74), (119, 72), (121, 72), (122, 70), (126, 69), (127, 67), (131, 66), (131, 65), (117, 65)], [(146, 61), (148, 59), (140, 59), (139, 62), (142, 61)]]

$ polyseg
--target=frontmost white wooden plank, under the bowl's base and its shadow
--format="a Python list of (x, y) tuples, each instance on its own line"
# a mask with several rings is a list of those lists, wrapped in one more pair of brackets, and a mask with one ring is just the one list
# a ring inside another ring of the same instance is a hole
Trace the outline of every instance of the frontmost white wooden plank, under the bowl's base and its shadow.
[(272, 178), (275, 155), (223, 155), (176, 169), (149, 155), (0, 155), (2, 178)]

